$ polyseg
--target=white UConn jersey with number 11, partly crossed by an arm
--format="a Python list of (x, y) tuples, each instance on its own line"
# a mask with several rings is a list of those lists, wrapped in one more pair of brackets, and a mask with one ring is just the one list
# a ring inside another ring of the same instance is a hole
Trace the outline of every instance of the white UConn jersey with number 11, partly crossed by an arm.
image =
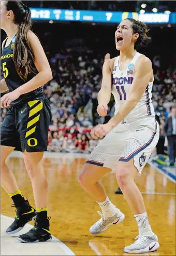
[[(115, 99), (115, 114), (118, 113), (122, 104), (128, 99), (130, 89), (133, 83), (135, 75), (135, 63), (137, 59), (141, 56), (141, 53), (136, 52), (133, 60), (128, 65), (128, 68), (125, 71), (119, 70), (119, 57), (118, 56), (114, 61), (113, 68), (113, 85), (112, 85), (112, 94)], [(153, 82), (149, 82), (148, 86), (133, 110), (125, 117), (129, 118), (141, 118), (146, 116), (155, 116), (154, 107), (152, 105), (152, 86)]]

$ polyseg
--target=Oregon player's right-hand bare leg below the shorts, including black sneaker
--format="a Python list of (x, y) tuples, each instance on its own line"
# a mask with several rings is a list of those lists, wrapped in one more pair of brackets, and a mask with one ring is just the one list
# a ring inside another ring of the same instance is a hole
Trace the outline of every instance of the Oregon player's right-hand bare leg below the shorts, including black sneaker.
[(42, 166), (43, 152), (23, 153), (24, 163), (30, 176), (35, 206), (35, 226), (28, 233), (18, 237), (22, 242), (50, 241), (51, 234), (48, 219), (48, 182)]

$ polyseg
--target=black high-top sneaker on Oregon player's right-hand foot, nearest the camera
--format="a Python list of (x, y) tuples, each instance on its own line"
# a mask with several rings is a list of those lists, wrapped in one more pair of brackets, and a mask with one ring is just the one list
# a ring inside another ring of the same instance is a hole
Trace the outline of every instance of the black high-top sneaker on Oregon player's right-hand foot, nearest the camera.
[(49, 242), (52, 239), (50, 233), (50, 217), (48, 219), (37, 219), (34, 227), (27, 233), (18, 236), (20, 242), (33, 243), (33, 242)]

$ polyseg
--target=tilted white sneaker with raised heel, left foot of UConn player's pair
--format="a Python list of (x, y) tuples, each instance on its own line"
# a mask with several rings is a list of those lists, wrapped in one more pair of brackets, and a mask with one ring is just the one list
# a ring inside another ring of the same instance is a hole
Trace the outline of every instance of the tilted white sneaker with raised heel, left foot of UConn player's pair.
[(101, 219), (92, 225), (89, 230), (93, 235), (100, 234), (107, 230), (110, 225), (119, 224), (125, 219), (125, 215), (119, 209), (117, 209), (112, 217), (106, 219), (101, 212), (98, 211), (98, 214), (101, 216)]

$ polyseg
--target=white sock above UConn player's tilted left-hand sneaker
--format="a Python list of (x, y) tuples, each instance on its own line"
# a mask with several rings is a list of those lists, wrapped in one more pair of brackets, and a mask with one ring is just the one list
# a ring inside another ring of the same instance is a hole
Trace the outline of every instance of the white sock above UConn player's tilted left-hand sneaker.
[(111, 203), (108, 196), (104, 202), (97, 203), (100, 206), (105, 219), (112, 217), (117, 212), (117, 208)]

